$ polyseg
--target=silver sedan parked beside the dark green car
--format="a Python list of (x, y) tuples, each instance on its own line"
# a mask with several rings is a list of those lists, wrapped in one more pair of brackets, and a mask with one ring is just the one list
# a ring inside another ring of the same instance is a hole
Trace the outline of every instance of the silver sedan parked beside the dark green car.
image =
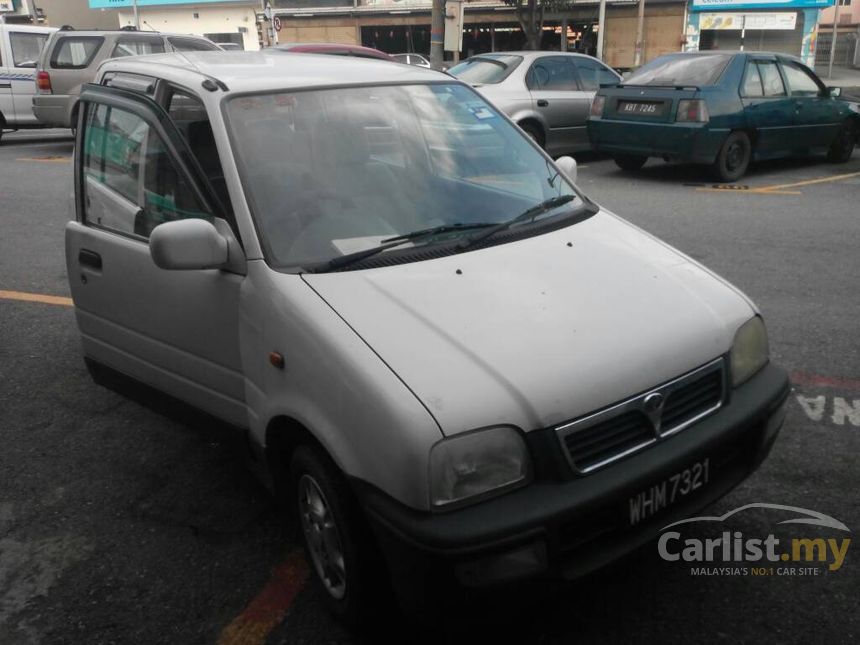
[(594, 93), (621, 77), (596, 58), (560, 52), (497, 52), (448, 70), (503, 110), (551, 155), (588, 150)]

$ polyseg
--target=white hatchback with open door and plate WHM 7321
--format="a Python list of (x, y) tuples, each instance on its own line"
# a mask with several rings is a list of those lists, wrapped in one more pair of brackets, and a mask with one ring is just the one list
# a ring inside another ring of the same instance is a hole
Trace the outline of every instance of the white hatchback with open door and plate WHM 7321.
[(469, 85), (270, 50), (98, 83), (66, 227), (86, 362), (245, 433), (345, 621), (389, 577), (456, 604), (583, 575), (770, 450), (789, 383), (755, 306)]

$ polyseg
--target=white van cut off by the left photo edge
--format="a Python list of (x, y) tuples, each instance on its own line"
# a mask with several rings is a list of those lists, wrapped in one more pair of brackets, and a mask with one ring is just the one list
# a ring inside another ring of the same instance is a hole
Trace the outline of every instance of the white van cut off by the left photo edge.
[(4, 129), (41, 128), (33, 114), (36, 64), (51, 27), (0, 22), (0, 139)]

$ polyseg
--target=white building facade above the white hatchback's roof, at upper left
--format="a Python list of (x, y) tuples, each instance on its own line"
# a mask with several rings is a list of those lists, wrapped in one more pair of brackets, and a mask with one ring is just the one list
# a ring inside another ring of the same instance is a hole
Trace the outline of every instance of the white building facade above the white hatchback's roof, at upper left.
[[(89, 0), (92, 9), (116, 9), (116, 27), (135, 25), (132, 0)], [(205, 36), (242, 49), (260, 48), (258, 0), (137, 0), (141, 31), (170, 31)]]

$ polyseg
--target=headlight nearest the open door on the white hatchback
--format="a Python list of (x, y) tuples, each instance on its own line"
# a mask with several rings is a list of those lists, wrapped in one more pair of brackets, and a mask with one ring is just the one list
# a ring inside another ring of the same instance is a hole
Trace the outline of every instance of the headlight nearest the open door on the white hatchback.
[(522, 435), (511, 427), (488, 428), (444, 439), (430, 451), (430, 504), (441, 508), (531, 478)]

